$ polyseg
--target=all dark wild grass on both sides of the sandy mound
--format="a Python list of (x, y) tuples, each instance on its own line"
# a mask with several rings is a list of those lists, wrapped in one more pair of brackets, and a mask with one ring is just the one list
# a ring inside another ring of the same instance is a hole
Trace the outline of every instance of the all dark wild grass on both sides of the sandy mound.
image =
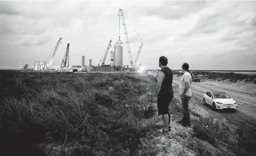
[[(10, 75), (0, 83), (0, 155), (155, 155), (161, 127), (148, 107), (155, 98), (139, 100), (154, 84), (154, 77), (133, 73)], [(181, 118), (176, 98), (170, 112)], [(187, 146), (197, 155), (255, 154), (253, 132), (235, 133), (211, 118), (192, 124), (197, 138)]]

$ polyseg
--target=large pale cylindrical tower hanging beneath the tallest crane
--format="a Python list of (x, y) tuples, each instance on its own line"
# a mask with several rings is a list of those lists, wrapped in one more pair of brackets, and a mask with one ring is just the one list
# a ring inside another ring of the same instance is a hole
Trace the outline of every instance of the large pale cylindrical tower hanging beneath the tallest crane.
[(115, 67), (123, 65), (123, 42), (121, 40), (118, 40), (114, 46), (114, 64)]

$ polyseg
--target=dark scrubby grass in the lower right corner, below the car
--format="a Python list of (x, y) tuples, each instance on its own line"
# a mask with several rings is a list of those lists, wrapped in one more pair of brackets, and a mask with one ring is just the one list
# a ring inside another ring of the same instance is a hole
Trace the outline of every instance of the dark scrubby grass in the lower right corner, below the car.
[[(210, 117), (193, 119), (192, 123), (194, 136), (211, 143), (221, 152), (215, 152), (215, 154), (227, 156), (255, 155), (255, 131), (243, 131), (241, 128), (233, 129), (225, 123), (214, 121)], [(200, 155), (215, 155), (214, 152), (203, 148), (202, 143), (197, 142), (196, 149)]]

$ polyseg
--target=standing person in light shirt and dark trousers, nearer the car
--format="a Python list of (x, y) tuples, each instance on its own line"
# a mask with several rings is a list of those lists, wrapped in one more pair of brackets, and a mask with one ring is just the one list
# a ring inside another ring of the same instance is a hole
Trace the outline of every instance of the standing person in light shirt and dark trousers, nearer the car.
[(181, 96), (182, 106), (183, 106), (183, 119), (182, 121), (178, 121), (179, 124), (183, 126), (190, 127), (190, 112), (188, 110), (188, 102), (192, 97), (192, 92), (190, 90), (191, 83), (193, 82), (193, 76), (190, 73), (189, 65), (184, 63), (182, 65), (182, 70), (184, 72), (181, 77), (181, 82), (179, 83), (179, 95)]

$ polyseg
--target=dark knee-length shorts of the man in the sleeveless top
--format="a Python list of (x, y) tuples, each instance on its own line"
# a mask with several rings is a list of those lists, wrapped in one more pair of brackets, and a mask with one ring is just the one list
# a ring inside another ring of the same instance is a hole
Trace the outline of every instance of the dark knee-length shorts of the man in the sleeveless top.
[(168, 114), (171, 100), (173, 100), (173, 92), (158, 97), (158, 115)]

